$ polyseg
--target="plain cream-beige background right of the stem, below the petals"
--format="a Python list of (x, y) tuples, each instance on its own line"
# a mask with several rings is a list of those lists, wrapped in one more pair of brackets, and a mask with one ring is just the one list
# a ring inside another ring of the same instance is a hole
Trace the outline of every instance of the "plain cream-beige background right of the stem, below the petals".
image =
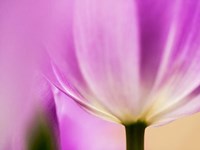
[(145, 150), (200, 150), (200, 113), (146, 129)]

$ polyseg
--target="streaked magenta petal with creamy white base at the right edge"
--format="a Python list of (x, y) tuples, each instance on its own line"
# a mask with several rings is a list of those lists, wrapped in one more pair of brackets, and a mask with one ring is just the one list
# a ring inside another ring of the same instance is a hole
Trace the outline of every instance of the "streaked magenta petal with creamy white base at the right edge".
[[(185, 0), (181, 4), (176, 2), (176, 5), (157, 78), (147, 97), (151, 107), (148, 114), (150, 120), (175, 109), (182, 109), (182, 105), (187, 107), (186, 103), (193, 101), (193, 97), (199, 94), (200, 4)], [(198, 100), (196, 103), (199, 103)], [(190, 106), (187, 107), (190, 112), (197, 111)]]

